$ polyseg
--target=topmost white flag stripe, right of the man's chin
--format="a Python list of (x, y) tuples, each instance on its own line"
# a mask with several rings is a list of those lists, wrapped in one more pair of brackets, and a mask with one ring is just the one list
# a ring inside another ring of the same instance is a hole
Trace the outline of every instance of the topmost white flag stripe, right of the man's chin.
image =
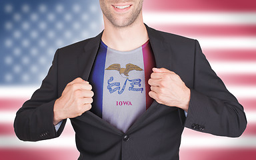
[(148, 25), (255, 25), (256, 12), (144, 12)]

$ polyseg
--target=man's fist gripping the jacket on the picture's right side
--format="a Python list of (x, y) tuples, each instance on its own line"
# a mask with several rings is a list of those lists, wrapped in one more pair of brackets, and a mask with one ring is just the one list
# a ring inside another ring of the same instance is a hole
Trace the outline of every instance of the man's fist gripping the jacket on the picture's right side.
[(149, 96), (158, 103), (179, 107), (184, 111), (189, 109), (190, 89), (173, 71), (153, 68), (149, 85), (151, 85)]

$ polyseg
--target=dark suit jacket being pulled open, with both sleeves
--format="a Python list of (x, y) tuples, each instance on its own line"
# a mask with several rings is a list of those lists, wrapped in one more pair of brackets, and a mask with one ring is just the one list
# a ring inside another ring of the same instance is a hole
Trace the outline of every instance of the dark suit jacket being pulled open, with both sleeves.
[[(239, 137), (245, 130), (243, 107), (211, 69), (197, 40), (149, 27), (147, 31), (157, 67), (174, 71), (191, 89), (187, 118), (182, 109), (154, 101), (123, 133), (87, 111), (71, 119), (79, 159), (179, 159), (184, 127), (228, 137)], [(57, 50), (40, 89), (17, 111), (14, 127), (19, 139), (39, 141), (61, 135), (65, 120), (56, 132), (53, 105), (67, 83), (77, 77), (88, 79), (101, 35)]]

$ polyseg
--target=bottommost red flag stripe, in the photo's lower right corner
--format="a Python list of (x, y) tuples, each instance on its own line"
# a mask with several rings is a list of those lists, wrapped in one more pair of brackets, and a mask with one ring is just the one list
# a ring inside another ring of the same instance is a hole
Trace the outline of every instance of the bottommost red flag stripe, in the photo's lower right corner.
[(256, 149), (181, 148), (179, 153), (181, 160), (255, 160), (256, 157)]

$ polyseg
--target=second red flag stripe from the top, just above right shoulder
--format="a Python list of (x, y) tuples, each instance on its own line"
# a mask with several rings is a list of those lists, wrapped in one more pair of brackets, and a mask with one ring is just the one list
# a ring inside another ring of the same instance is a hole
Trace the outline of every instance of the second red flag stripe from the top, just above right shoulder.
[(151, 25), (151, 27), (186, 37), (253, 37), (256, 35), (256, 25)]

